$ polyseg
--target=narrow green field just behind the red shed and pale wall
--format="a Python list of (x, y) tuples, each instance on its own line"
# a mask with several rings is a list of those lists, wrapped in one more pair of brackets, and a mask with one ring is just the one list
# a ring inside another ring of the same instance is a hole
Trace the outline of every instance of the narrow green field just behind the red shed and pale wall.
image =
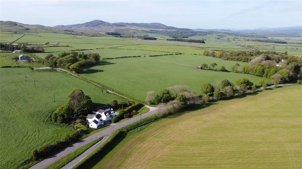
[(215, 57), (208, 57), (203, 55), (192, 55), (192, 54), (181, 54), (181, 55), (166, 55), (166, 56), (158, 56), (152, 57), (152, 59), (164, 60), (169, 62), (175, 62), (185, 65), (191, 66), (201, 66), (203, 63), (210, 66), (211, 63), (217, 63), (216, 69), (220, 69), (221, 66), (224, 66), (227, 70), (232, 71), (232, 66), (238, 63), (238, 69), (241, 70), (243, 66), (247, 66), (248, 62), (239, 62), (232, 60), (222, 60)]

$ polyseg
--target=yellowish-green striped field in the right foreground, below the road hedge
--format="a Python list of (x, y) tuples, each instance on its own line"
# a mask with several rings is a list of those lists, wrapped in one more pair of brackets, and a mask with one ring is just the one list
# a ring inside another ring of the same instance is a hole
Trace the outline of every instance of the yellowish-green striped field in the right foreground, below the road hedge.
[(302, 168), (302, 85), (219, 101), (128, 134), (93, 168)]

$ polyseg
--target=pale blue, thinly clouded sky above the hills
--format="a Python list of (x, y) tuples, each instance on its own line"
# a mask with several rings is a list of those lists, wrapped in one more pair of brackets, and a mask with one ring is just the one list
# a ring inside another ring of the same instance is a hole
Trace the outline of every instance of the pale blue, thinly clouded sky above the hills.
[(189, 29), (302, 25), (302, 1), (0, 1), (0, 20), (44, 26), (92, 20)]

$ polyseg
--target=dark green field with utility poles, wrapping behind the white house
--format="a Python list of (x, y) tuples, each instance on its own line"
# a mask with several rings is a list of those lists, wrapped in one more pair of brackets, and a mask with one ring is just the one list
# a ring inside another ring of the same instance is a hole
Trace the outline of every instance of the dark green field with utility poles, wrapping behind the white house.
[[(28, 81), (25, 81), (25, 75)], [(72, 126), (54, 124), (48, 120), (51, 112), (66, 103), (72, 89), (82, 89), (92, 98), (95, 106), (110, 103), (113, 99), (125, 101), (65, 72), (1, 68), (0, 81), (1, 168), (16, 167), (30, 156), (33, 149), (55, 143), (75, 131)]]

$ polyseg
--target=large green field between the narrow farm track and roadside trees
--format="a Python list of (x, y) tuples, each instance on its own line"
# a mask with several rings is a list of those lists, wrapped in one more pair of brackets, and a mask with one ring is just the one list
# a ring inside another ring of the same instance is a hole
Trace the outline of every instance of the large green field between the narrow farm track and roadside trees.
[[(145, 100), (147, 91), (159, 92), (174, 85), (188, 85), (192, 91), (201, 94), (202, 84), (216, 83), (223, 79), (228, 79), (233, 83), (240, 78), (248, 78), (253, 83), (263, 79), (271, 83), (269, 79), (255, 75), (199, 70), (194, 67), (152, 60), (153, 58), (157, 57), (102, 60), (102, 63), (86, 69), (80, 75), (137, 100)], [(224, 62), (228, 64), (228, 61)]]

